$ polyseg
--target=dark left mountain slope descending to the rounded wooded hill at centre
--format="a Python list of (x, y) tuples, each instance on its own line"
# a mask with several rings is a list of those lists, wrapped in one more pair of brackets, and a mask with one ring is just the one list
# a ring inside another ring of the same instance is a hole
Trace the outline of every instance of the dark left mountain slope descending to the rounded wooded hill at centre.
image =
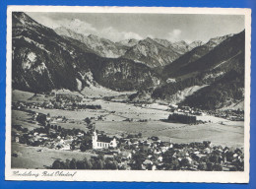
[(13, 13), (12, 34), (13, 89), (37, 93), (53, 89), (81, 91), (89, 83), (97, 83), (125, 91), (161, 82), (146, 65), (100, 57), (79, 40), (62, 37), (25, 13)]

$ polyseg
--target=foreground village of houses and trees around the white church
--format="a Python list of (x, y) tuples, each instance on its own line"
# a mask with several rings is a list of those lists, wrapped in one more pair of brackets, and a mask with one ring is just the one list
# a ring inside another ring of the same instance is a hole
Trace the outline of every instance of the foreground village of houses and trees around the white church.
[[(157, 136), (145, 139), (141, 133), (110, 137), (104, 131), (96, 130), (90, 118), (84, 120), (88, 130), (85, 131), (50, 124), (50, 115), (29, 112), (33, 115), (32, 121), (40, 127), (28, 130), (13, 125), (14, 143), (92, 155), (84, 160), (75, 157), (65, 162), (55, 160), (48, 168), (216, 171), (242, 171), (244, 168), (243, 149), (213, 146), (210, 141), (174, 144), (171, 138), (169, 142), (162, 142)], [(14, 153), (12, 156), (19, 155)]]

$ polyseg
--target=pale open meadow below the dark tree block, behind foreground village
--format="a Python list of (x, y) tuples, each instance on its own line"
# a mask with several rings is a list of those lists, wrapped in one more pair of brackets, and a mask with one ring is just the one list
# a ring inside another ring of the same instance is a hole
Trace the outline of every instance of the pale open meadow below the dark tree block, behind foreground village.
[(103, 130), (109, 135), (118, 136), (121, 133), (142, 133), (144, 138), (158, 136), (162, 141), (171, 140), (173, 143), (191, 143), (211, 141), (215, 145), (227, 147), (243, 147), (243, 123), (230, 125), (207, 123), (187, 125), (180, 123), (151, 122), (98, 122), (96, 129)]

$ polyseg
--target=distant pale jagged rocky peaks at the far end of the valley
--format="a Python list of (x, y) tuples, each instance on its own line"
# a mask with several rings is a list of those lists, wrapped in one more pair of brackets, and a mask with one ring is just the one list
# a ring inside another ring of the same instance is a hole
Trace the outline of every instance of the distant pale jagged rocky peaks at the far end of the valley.
[(134, 38), (118, 42), (98, 37), (96, 35), (84, 35), (65, 27), (55, 29), (61, 36), (77, 39), (87, 45), (97, 55), (108, 58), (123, 57), (146, 64), (149, 67), (160, 67), (171, 63), (180, 55), (202, 45), (201, 41), (191, 44), (185, 41), (170, 42), (166, 39), (146, 38), (137, 40)]

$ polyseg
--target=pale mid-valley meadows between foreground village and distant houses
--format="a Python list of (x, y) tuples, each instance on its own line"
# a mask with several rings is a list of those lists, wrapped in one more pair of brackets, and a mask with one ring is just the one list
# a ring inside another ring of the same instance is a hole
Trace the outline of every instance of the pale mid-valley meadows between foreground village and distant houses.
[[(68, 119), (65, 123), (54, 123), (64, 128), (86, 130), (83, 119), (86, 117), (97, 117), (102, 115), (102, 121), (95, 121), (96, 129), (104, 131), (111, 136), (142, 133), (144, 138), (158, 136), (163, 141), (171, 140), (174, 143), (203, 142), (207, 140), (216, 145), (243, 147), (243, 122), (228, 121), (213, 116), (199, 116), (198, 119), (211, 122), (199, 125), (166, 123), (160, 121), (160, 119), (167, 118), (169, 114), (164, 110), (103, 100), (95, 100), (91, 102), (95, 104), (99, 104), (100, 102), (102, 109), (85, 109), (79, 111), (56, 109), (32, 110), (45, 114), (50, 113), (51, 116), (65, 116)], [(127, 118), (133, 120), (125, 121)], [(28, 119), (29, 115), (26, 112), (13, 111), (14, 123), (22, 124), (31, 129), (34, 125), (29, 123)], [(139, 120), (141, 119), (147, 119), (147, 122), (140, 122)]]

